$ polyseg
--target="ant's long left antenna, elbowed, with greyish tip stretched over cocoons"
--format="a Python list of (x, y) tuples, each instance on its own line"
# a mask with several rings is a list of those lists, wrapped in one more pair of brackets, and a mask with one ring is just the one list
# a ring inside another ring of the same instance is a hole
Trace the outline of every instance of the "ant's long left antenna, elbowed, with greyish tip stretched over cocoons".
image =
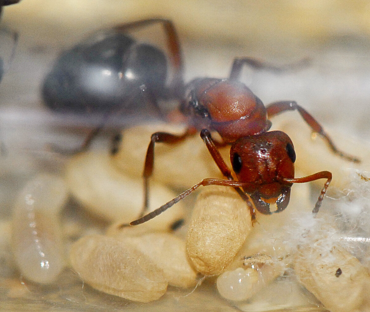
[[(190, 189), (186, 190), (184, 193), (181, 193), (179, 196), (175, 197), (174, 199), (170, 200), (168, 203), (162, 205), (161, 207), (153, 210), (152, 212), (146, 214), (145, 216), (130, 222), (130, 225), (138, 225), (144, 222), (151, 220), (154, 217), (157, 217), (159, 214), (167, 210), (168, 208), (172, 207), (174, 204), (178, 203), (180, 200), (184, 199), (189, 194), (193, 193), (198, 187), (200, 186), (208, 186), (208, 185), (219, 185), (219, 186), (232, 186), (235, 188), (243, 187), (245, 183), (238, 182), (238, 181), (230, 181), (230, 180), (221, 180), (221, 179), (204, 179), (198, 184), (195, 184)], [(247, 201), (249, 202), (249, 201)]]

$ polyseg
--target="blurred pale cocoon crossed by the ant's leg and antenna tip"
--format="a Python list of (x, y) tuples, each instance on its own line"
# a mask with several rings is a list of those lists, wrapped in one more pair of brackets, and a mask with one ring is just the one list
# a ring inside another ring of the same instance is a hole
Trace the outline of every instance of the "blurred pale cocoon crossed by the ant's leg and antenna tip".
[[(65, 177), (73, 196), (91, 213), (109, 221), (129, 223), (139, 217), (143, 203), (141, 175), (131, 177), (114, 165), (106, 153), (83, 153), (67, 164)], [(176, 193), (159, 183), (150, 184), (149, 211)], [(148, 221), (152, 228), (167, 228), (184, 216), (183, 203)]]

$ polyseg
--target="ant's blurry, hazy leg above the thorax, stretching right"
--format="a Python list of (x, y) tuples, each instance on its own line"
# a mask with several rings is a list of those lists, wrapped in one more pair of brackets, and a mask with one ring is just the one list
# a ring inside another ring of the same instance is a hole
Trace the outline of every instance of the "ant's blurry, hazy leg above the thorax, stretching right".
[(229, 79), (232, 81), (238, 81), (244, 65), (248, 65), (253, 69), (267, 69), (275, 73), (281, 73), (302, 67), (304, 68), (307, 67), (309, 64), (310, 58), (303, 58), (302, 60), (296, 63), (287, 64), (283, 66), (269, 64), (252, 57), (235, 58), (231, 67)]

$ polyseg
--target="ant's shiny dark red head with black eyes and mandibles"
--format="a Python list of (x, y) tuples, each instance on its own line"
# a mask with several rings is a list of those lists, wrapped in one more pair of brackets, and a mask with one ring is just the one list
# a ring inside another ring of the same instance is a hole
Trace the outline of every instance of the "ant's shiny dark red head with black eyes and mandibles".
[[(232, 167), (238, 180), (246, 183), (256, 209), (263, 214), (280, 212), (289, 203), (296, 154), (292, 140), (282, 131), (270, 131), (236, 140), (230, 149)], [(270, 203), (277, 210), (270, 211)]]

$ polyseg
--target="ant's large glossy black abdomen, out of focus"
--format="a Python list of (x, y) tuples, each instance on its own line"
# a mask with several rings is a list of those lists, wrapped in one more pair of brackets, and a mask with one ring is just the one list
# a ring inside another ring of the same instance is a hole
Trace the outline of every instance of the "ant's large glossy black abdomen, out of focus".
[(166, 57), (116, 32), (100, 32), (60, 55), (42, 95), (57, 112), (139, 113), (164, 93)]

